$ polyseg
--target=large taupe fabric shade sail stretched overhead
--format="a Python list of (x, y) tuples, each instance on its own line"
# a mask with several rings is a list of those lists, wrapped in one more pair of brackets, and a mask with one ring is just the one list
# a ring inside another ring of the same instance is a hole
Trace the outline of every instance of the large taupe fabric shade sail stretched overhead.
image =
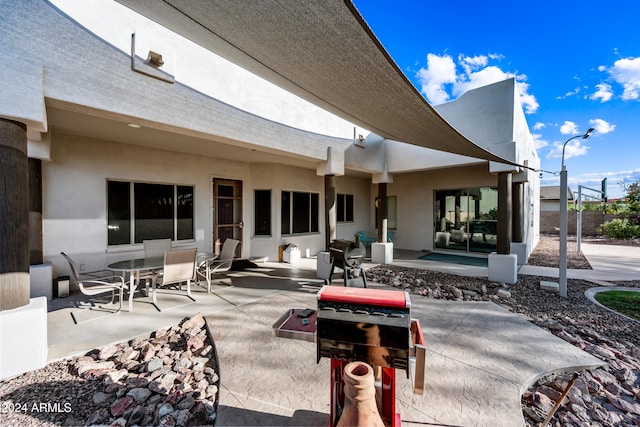
[(513, 164), (449, 125), (350, 0), (117, 0), (256, 75), (385, 138)]

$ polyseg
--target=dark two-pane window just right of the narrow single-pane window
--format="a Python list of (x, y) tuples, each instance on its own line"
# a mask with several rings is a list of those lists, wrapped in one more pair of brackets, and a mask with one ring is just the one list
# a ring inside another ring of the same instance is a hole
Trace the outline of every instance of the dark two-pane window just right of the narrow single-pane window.
[(319, 197), (317, 193), (282, 192), (282, 234), (317, 233), (319, 231)]

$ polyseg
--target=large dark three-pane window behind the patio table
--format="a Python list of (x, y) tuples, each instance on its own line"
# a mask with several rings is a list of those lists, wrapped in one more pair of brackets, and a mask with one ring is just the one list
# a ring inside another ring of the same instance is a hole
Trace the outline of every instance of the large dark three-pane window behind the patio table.
[(107, 181), (107, 221), (109, 245), (193, 239), (193, 186)]

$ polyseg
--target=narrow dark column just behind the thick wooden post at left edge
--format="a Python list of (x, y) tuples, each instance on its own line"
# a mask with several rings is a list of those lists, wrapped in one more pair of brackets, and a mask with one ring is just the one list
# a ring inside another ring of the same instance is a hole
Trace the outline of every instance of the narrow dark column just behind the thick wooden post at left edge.
[(29, 159), (29, 264), (42, 262), (42, 160)]

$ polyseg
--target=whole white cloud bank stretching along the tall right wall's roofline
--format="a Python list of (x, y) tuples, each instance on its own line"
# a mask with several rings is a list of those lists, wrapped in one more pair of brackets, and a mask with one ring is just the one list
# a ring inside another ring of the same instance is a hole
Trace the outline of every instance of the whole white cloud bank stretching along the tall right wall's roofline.
[[(435, 105), (457, 98), (463, 93), (481, 86), (497, 83), (508, 78), (515, 78), (520, 102), (526, 113), (534, 113), (539, 104), (536, 97), (529, 93), (527, 76), (503, 71), (500, 67), (489, 65), (489, 60), (499, 61), (502, 55), (489, 54), (465, 56), (459, 55), (457, 65), (462, 72), (458, 73), (456, 63), (450, 55), (442, 56), (430, 53), (427, 55), (427, 67), (417, 72), (420, 92)], [(449, 86), (451, 85), (451, 86)], [(449, 90), (448, 90), (449, 89)]]

